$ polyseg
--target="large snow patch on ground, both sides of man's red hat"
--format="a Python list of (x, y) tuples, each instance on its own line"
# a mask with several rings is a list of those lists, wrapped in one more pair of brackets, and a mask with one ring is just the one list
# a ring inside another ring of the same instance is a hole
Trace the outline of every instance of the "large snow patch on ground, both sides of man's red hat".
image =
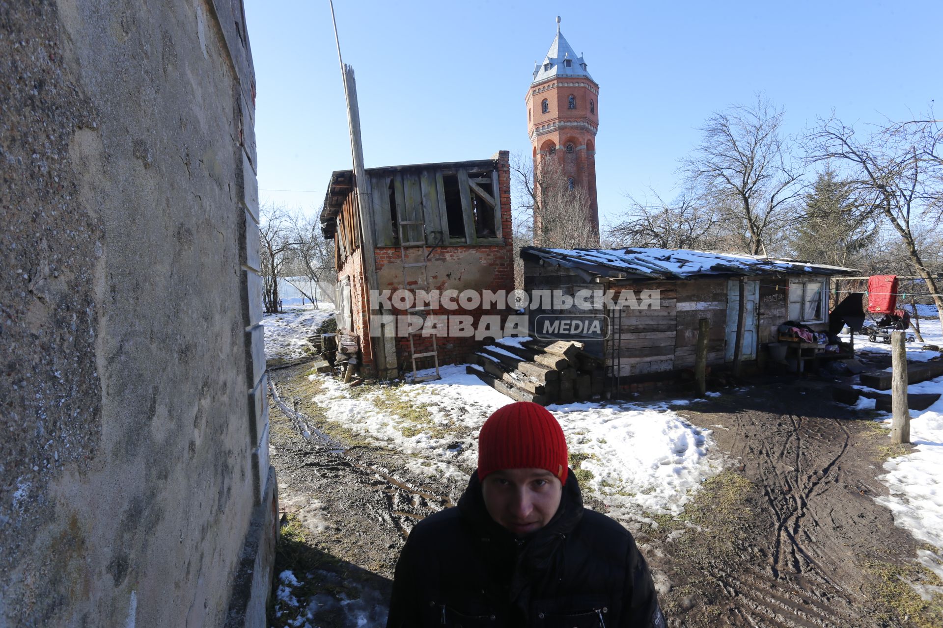
[[(326, 417), (374, 443), (412, 454), (409, 469), (422, 475), (467, 477), (476, 466), (477, 435), (498, 408), (512, 400), (465, 373), (445, 366), (441, 379), (387, 388), (321, 383), (314, 402)], [(720, 471), (711, 456), (711, 430), (687, 423), (670, 409), (685, 402), (574, 403), (550, 406), (567, 436), (571, 467), (581, 486), (613, 514), (645, 518), (680, 514), (693, 491)]]

